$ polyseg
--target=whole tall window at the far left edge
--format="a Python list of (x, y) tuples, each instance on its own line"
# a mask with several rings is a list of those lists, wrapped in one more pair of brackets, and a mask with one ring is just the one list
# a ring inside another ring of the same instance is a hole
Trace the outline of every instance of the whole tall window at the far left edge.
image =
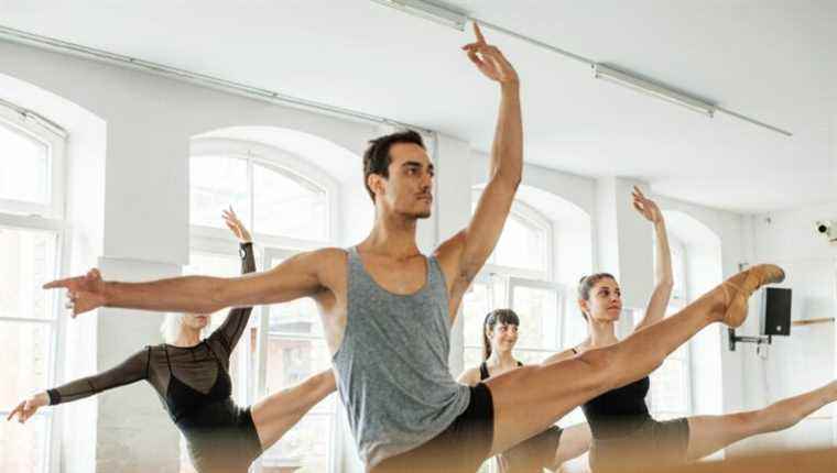
[[(61, 319), (41, 285), (59, 273), (63, 153), (63, 136), (0, 109), (0, 409), (57, 377)], [(0, 471), (50, 471), (54, 424), (52, 409), (26, 426), (0, 422)]]

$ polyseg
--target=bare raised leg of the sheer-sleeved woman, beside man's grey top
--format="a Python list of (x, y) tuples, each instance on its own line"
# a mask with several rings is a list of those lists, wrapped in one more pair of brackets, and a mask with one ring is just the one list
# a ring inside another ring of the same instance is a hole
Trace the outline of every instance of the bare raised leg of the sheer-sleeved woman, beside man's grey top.
[(334, 373), (327, 370), (256, 403), (250, 413), (262, 450), (272, 447), (312, 407), (335, 389)]

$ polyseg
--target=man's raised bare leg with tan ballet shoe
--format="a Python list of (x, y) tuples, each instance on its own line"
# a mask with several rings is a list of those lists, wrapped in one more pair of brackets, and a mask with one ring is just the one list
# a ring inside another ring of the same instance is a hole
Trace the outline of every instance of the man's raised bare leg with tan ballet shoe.
[(488, 380), (486, 386), (494, 408), (491, 454), (545, 430), (594, 397), (646, 376), (708, 324), (716, 321), (741, 324), (747, 317), (747, 304), (741, 299), (761, 284), (783, 277), (775, 266), (756, 266), (620, 343), (589, 350), (570, 360), (523, 366)]

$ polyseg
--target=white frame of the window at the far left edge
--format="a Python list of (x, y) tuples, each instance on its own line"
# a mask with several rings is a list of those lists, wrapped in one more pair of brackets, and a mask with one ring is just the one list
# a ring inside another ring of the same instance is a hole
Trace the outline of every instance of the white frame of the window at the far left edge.
[[(69, 267), (69, 239), (66, 238), (68, 226), (64, 220), (67, 135), (58, 127), (47, 127), (45, 121), (34, 120), (31, 112), (9, 107), (6, 101), (0, 102), (0, 127), (45, 145), (50, 169), (50, 201), (39, 205), (36, 202), (0, 199), (0, 228), (52, 234), (55, 244), (55, 261), (53, 264), (54, 274), (51, 276), (58, 277), (59, 274), (64, 274)], [(58, 363), (58, 360), (62, 359), (59, 354), (64, 353), (65, 350), (65, 321), (58, 295), (58, 292), (53, 292), (48, 296), (48, 311), (53, 315), (52, 319), (0, 316), (0, 321), (47, 324), (51, 327), (47, 386), (44, 386), (44, 388), (54, 386), (57, 380), (63, 378), (63, 366)], [(9, 413), (9, 410), (0, 409), (0, 416), (6, 417)], [(48, 457), (45, 459), (44, 472), (58, 473), (61, 462), (57, 459), (61, 454), (63, 413), (55, 409), (41, 409), (41, 411), (35, 414), (35, 417), (48, 420), (48, 428), (45, 433), (45, 446)]]

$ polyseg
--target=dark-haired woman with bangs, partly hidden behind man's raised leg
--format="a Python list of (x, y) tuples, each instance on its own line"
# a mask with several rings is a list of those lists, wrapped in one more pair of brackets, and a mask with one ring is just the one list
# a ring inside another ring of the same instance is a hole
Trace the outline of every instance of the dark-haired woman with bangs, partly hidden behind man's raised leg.
[[(511, 309), (489, 312), (482, 322), (482, 363), (459, 375), (459, 383), (475, 386), (491, 376), (523, 366), (512, 351), (518, 343), (520, 318)], [(553, 426), (531, 439), (507, 450), (497, 460), (500, 473), (542, 473), (587, 451), (590, 430), (586, 424), (561, 429)]]

